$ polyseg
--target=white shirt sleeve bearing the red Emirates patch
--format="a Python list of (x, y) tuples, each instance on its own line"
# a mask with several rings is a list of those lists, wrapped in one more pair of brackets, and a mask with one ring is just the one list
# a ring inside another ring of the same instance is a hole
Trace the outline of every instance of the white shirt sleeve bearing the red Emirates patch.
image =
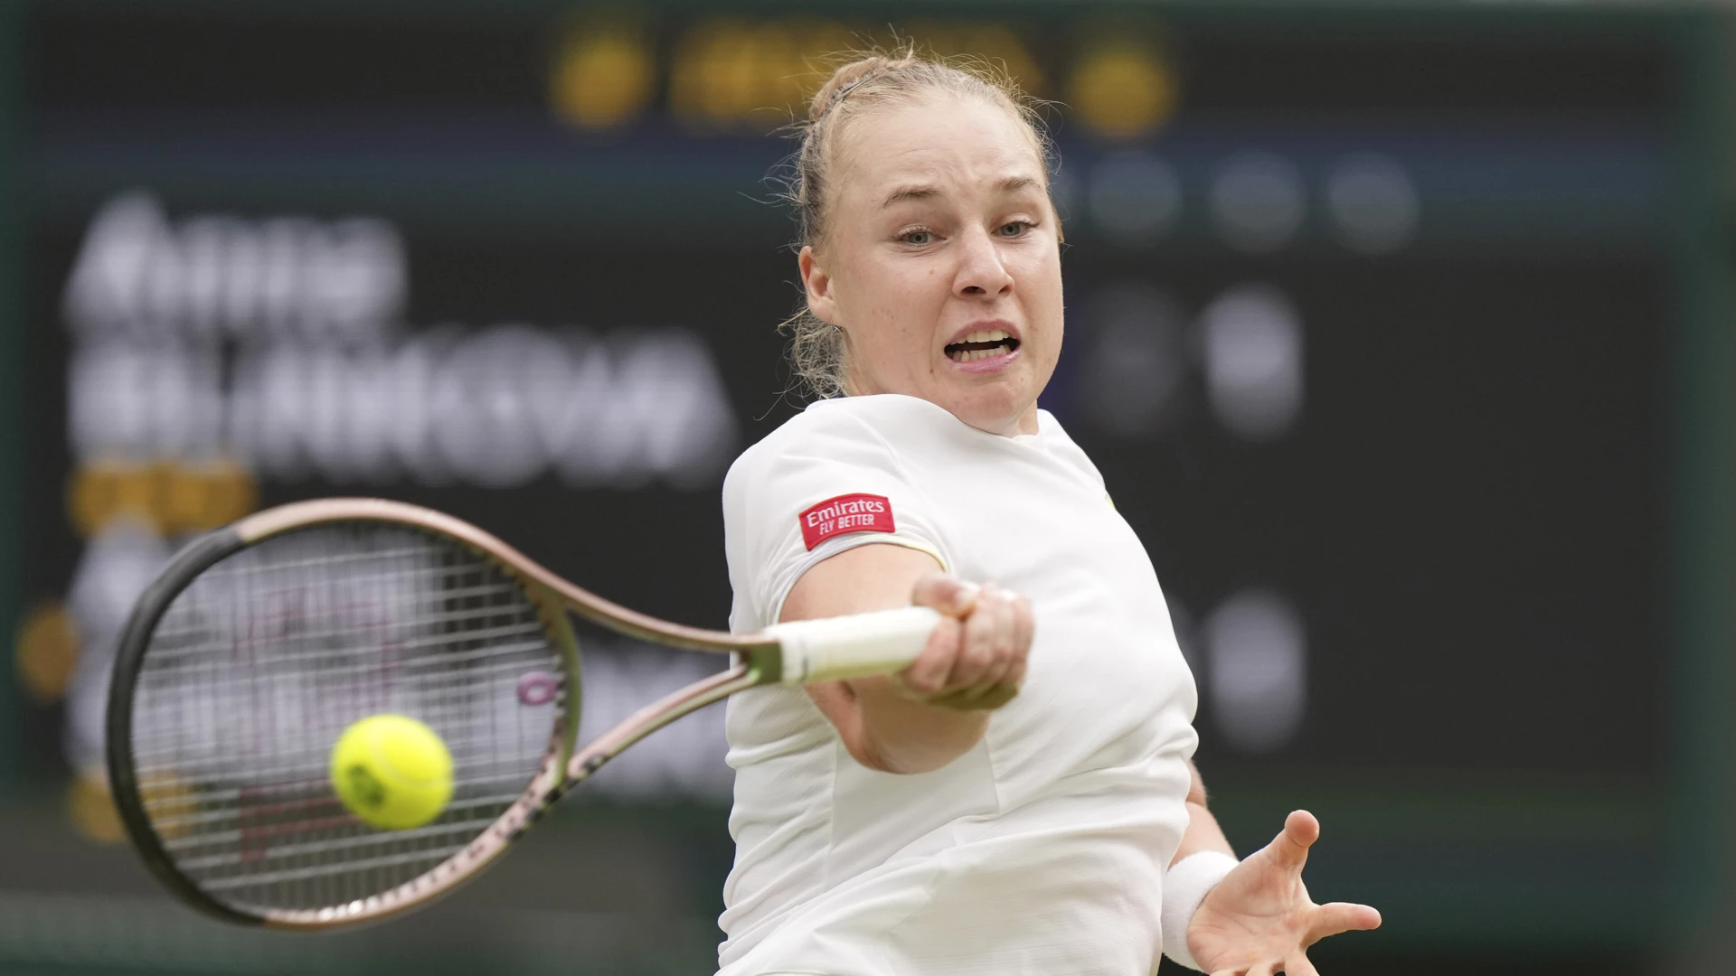
[(951, 568), (932, 505), (887, 434), (842, 410), (809, 410), (748, 448), (724, 479), (731, 627), (778, 620), (811, 566), (868, 544), (908, 545)]

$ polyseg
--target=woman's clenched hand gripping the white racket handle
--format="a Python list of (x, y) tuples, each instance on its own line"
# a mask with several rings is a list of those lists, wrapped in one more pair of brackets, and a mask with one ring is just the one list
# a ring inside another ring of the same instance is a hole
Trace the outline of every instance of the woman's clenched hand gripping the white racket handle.
[(899, 695), (969, 712), (1000, 709), (1019, 693), (1036, 630), (1029, 599), (929, 573), (911, 587), (910, 603), (932, 606), (943, 620), (922, 655), (894, 676)]

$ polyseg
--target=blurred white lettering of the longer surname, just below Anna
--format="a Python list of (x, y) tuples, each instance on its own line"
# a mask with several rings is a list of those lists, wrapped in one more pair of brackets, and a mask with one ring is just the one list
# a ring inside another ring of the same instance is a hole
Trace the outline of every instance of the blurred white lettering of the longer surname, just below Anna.
[(243, 349), (229, 382), (208, 347), (94, 342), (71, 359), (73, 453), (229, 455), (267, 479), (333, 485), (717, 481), (738, 431), (700, 337), (566, 339), (509, 325), (354, 351), (285, 340)]

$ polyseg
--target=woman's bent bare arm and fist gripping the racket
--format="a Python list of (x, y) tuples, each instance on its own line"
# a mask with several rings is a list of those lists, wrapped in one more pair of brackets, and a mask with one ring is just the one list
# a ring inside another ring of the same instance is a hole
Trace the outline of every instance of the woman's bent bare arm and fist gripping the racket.
[(849, 754), (885, 773), (927, 773), (969, 752), (990, 709), (1024, 681), (1031, 603), (976, 587), (906, 545), (845, 549), (802, 573), (779, 620), (814, 620), (922, 604), (944, 618), (908, 669), (889, 677), (823, 681), (807, 695), (838, 729)]

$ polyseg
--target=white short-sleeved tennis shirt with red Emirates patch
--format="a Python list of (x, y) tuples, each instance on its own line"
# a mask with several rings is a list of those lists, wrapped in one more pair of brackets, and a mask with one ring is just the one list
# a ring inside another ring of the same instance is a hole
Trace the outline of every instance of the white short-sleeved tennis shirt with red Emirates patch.
[(1002, 438), (910, 396), (814, 403), (724, 481), (736, 632), (898, 544), (1028, 596), (1024, 688), (943, 769), (858, 764), (800, 688), (729, 700), (726, 976), (1149, 976), (1187, 827), (1193, 676), (1144, 547), (1047, 412)]

